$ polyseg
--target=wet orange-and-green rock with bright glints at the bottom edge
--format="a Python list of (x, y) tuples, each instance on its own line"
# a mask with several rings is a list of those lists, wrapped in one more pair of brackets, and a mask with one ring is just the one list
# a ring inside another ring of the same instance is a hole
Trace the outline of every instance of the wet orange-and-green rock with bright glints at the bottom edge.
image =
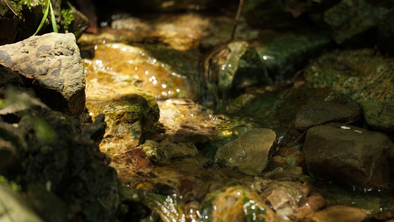
[(275, 215), (260, 196), (242, 186), (208, 194), (201, 203), (201, 215), (212, 218), (212, 222), (284, 221)]

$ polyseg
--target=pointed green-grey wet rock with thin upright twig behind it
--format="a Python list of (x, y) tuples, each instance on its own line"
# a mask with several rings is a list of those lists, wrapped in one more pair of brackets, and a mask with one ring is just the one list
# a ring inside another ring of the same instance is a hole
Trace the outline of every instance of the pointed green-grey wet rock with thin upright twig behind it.
[(237, 95), (242, 88), (271, 82), (256, 49), (245, 41), (219, 47), (204, 62), (204, 84), (214, 105)]

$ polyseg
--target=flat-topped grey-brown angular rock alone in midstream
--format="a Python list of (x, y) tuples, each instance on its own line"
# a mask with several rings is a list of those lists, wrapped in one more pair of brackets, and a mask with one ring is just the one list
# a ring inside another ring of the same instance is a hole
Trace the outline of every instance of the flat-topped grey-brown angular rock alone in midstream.
[(218, 164), (237, 167), (243, 173), (259, 175), (268, 165), (276, 133), (271, 129), (255, 128), (217, 150)]

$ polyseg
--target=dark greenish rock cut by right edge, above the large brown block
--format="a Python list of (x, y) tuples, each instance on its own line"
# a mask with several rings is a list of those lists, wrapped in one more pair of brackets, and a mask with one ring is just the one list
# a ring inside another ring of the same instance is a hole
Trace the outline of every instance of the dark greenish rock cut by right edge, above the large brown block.
[(375, 130), (394, 131), (394, 100), (366, 100), (361, 103), (366, 122)]

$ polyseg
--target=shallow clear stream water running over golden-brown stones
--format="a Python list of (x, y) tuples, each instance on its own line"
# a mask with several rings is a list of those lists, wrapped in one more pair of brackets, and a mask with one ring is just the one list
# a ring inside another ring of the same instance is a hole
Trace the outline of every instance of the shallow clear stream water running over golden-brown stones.
[[(394, 216), (392, 187), (359, 190), (310, 177), (303, 162), (303, 138), (292, 145), (301, 135), (293, 120), (303, 105), (346, 101), (346, 96), (307, 88), (302, 78), (294, 77), (240, 90), (221, 101), (220, 111), (201, 105), (200, 75), (209, 50), (198, 47), (226, 41), (231, 21), (195, 13), (130, 17), (79, 42), (83, 53), (94, 52), (83, 60), (88, 103), (103, 100), (98, 94), (112, 97), (141, 87), (152, 92), (160, 108), (159, 130), (142, 137), (171, 153), (165, 164), (149, 161), (138, 147), (143, 140), (135, 147), (100, 145), (124, 183), (125, 196), (151, 210), (141, 221), (303, 221), (323, 206), (335, 205), (358, 207), (368, 218)], [(218, 31), (220, 27), (227, 28)], [(267, 32), (246, 24), (239, 29), (244, 32), (238, 40), (259, 40), (259, 33)], [(246, 31), (253, 35), (245, 36)], [(256, 176), (219, 167), (216, 150), (252, 128), (277, 133), (268, 167)]]

